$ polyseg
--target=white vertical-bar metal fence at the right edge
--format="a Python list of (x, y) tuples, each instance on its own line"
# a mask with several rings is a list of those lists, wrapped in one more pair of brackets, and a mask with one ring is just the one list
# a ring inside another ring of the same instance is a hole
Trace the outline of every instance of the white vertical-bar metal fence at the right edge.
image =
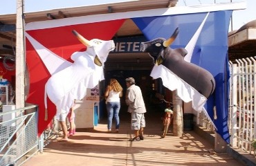
[(255, 155), (255, 57), (230, 62), (230, 74), (230, 145)]

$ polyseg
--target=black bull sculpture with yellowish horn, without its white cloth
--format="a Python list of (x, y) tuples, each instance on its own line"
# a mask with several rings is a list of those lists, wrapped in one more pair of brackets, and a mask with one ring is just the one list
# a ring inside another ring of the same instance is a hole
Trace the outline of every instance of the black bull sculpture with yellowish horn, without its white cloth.
[[(149, 42), (143, 42), (140, 50), (154, 59), (156, 65), (162, 64), (182, 80), (190, 84), (196, 91), (201, 93), (205, 98), (208, 98), (215, 89), (215, 80), (212, 74), (190, 62), (184, 60), (188, 51), (185, 48), (170, 48), (170, 44), (179, 34), (179, 29), (176, 28), (172, 37), (169, 39), (156, 38)], [(170, 82), (172, 84), (172, 82)]]

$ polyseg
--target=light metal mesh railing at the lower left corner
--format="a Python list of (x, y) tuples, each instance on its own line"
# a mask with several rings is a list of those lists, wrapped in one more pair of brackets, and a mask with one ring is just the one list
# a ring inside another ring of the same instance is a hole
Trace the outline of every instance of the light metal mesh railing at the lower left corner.
[(0, 113), (0, 166), (21, 165), (43, 149), (37, 136), (37, 106)]

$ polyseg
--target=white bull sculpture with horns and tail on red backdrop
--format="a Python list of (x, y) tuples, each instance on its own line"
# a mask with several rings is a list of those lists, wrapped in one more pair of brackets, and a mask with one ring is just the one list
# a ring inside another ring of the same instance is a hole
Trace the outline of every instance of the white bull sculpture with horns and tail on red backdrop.
[(74, 100), (82, 100), (86, 89), (92, 89), (100, 80), (104, 80), (103, 66), (109, 52), (115, 48), (113, 40), (103, 41), (82, 37), (75, 30), (73, 34), (87, 49), (84, 52), (75, 52), (71, 55), (74, 61), (71, 66), (54, 73), (45, 85), (45, 107), (47, 119), (47, 95), (55, 104), (57, 120), (64, 120)]

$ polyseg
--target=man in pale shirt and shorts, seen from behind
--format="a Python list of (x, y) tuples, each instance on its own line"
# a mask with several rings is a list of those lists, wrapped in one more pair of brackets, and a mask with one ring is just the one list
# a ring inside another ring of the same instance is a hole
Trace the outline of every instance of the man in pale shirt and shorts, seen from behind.
[(134, 140), (144, 140), (144, 128), (146, 126), (145, 116), (146, 107), (143, 100), (143, 94), (139, 86), (135, 85), (133, 77), (125, 79), (127, 85), (127, 92), (125, 95), (125, 102), (128, 105), (128, 112), (131, 113), (131, 129), (134, 130)]

